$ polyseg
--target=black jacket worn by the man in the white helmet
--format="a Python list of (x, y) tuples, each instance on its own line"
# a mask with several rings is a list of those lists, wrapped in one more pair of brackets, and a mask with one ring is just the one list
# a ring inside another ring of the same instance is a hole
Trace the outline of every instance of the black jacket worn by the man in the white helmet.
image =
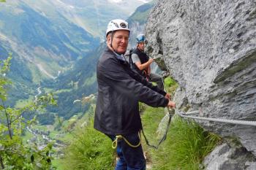
[(130, 69), (109, 48), (97, 63), (98, 97), (94, 128), (104, 134), (131, 134), (142, 129), (138, 101), (166, 107), (165, 91)]

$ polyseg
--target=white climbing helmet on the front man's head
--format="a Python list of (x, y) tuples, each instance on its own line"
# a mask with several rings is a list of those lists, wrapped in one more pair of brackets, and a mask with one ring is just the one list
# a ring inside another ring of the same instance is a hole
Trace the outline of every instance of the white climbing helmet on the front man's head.
[(129, 26), (128, 26), (127, 21), (120, 20), (120, 19), (111, 20), (108, 23), (108, 28), (107, 28), (107, 31), (106, 31), (106, 36), (108, 35), (108, 33), (110, 31), (116, 31), (116, 30), (127, 30), (127, 31), (129, 31)]

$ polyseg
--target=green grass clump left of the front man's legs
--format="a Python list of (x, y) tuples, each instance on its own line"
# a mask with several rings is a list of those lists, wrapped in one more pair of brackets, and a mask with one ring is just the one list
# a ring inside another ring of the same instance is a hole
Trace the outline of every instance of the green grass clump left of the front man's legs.
[[(93, 107), (93, 106), (92, 106)], [(78, 118), (72, 117), (72, 118)], [(72, 119), (71, 118), (71, 119)], [(88, 122), (86, 127), (81, 124)], [(70, 121), (64, 121), (69, 125)], [(57, 170), (108, 170), (113, 169), (113, 152), (111, 140), (93, 128), (93, 119), (87, 112), (79, 120), (75, 120), (75, 126), (71, 132), (66, 132), (59, 137), (69, 146), (64, 149), (64, 158), (53, 161)]]

